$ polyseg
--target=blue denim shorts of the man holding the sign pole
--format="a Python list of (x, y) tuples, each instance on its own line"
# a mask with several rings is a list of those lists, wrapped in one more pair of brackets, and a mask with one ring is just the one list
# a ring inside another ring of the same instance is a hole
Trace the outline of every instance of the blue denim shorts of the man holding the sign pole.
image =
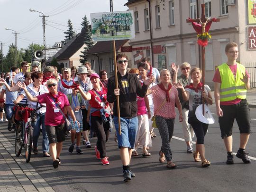
[(114, 116), (114, 124), (117, 131), (118, 147), (128, 147), (134, 149), (136, 134), (138, 130), (138, 118), (120, 118), (121, 135), (119, 134), (118, 117)]

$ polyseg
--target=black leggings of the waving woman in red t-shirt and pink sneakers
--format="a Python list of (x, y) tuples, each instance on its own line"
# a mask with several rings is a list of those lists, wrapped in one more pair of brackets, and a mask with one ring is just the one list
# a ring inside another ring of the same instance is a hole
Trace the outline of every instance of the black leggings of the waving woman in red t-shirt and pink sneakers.
[(107, 117), (108, 121), (103, 123), (101, 117), (91, 116), (91, 126), (94, 127), (97, 134), (97, 149), (100, 151), (101, 158), (106, 157), (106, 142), (110, 136), (110, 117)]

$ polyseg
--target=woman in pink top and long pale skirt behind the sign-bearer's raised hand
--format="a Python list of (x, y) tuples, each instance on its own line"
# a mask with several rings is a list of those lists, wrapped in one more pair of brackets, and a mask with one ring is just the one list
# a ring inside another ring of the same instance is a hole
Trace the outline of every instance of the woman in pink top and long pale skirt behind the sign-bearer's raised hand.
[[(145, 64), (146, 65), (146, 64)], [(140, 78), (145, 79), (146, 77), (146, 72), (144, 68), (140, 67), (139, 69), (137, 68), (132, 68), (129, 73), (136, 74), (137, 77), (140, 75)], [(146, 77), (147, 78), (147, 77)], [(143, 80), (140, 79), (140, 83), (143, 84)], [(138, 117), (138, 130), (136, 134), (136, 141), (135, 141), (135, 150), (132, 152), (132, 156), (137, 156), (137, 148), (142, 147), (142, 156), (143, 157), (148, 157), (151, 155), (147, 151), (147, 148), (152, 147), (152, 140), (151, 140), (151, 135), (149, 132), (149, 122), (148, 122), (148, 112), (150, 114), (150, 108), (148, 104), (148, 99), (145, 96), (139, 97), (137, 96), (137, 117)]]

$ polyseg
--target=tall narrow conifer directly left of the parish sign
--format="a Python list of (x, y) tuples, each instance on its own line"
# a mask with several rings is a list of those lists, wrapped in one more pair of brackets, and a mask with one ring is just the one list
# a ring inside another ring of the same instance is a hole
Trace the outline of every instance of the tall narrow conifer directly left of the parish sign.
[(79, 59), (80, 63), (84, 64), (87, 60), (86, 52), (91, 49), (93, 46), (93, 40), (91, 39), (91, 27), (89, 25), (89, 21), (87, 20), (86, 15), (82, 18), (82, 35), (84, 37), (84, 48), (81, 51), (82, 55), (79, 55), (81, 58)]

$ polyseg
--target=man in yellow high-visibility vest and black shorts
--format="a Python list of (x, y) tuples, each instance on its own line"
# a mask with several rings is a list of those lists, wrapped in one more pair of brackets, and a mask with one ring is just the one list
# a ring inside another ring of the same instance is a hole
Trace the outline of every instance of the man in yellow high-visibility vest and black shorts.
[(228, 153), (226, 163), (234, 164), (232, 129), (235, 119), (240, 132), (240, 145), (236, 156), (244, 163), (250, 163), (248, 153), (245, 152), (251, 133), (250, 109), (246, 100), (247, 90), (250, 89), (249, 74), (243, 65), (237, 63), (237, 43), (229, 42), (225, 52), (228, 61), (217, 67), (212, 81), (221, 138)]

